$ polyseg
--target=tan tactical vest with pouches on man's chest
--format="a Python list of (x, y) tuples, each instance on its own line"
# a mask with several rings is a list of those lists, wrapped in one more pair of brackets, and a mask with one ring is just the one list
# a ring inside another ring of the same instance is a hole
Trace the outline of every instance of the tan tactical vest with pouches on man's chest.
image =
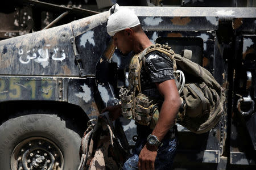
[(154, 129), (158, 121), (158, 102), (142, 94), (140, 76), (142, 65), (144, 65), (146, 59), (144, 56), (154, 50), (159, 50), (170, 58), (174, 58), (174, 51), (170, 47), (158, 44), (151, 45), (141, 53), (135, 54), (129, 65), (129, 87), (120, 90), (123, 117), (133, 118), (141, 125), (150, 125), (151, 129)]

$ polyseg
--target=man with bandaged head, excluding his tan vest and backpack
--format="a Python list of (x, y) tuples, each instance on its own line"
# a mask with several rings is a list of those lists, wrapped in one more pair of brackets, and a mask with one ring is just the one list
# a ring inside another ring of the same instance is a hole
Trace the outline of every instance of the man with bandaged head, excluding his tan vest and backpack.
[[(128, 8), (114, 5), (110, 8), (107, 31), (113, 37), (114, 45), (123, 53), (141, 55), (152, 45), (137, 15)], [(159, 118), (154, 128), (137, 121), (138, 141), (134, 156), (128, 159), (123, 169), (170, 169), (176, 153), (177, 138), (175, 118), (181, 101), (174, 80), (173, 65), (166, 54), (153, 51), (148, 53), (141, 68), (141, 93), (150, 99), (157, 99)], [(105, 108), (113, 120), (124, 109), (122, 105)], [(133, 118), (134, 118), (133, 113)], [(152, 126), (151, 126), (152, 127)], [(139, 156), (138, 156), (139, 155)]]

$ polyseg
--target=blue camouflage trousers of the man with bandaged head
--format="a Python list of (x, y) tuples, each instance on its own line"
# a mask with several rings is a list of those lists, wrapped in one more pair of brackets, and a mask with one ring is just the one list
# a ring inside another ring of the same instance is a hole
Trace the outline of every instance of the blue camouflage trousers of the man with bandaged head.
[[(146, 144), (147, 139), (141, 138), (135, 144), (133, 150), (134, 155), (127, 159), (123, 165), (123, 170), (135, 170), (138, 169), (139, 153)], [(155, 169), (171, 169), (174, 162), (174, 156), (177, 150), (177, 137), (170, 139), (170, 135), (166, 135), (163, 140), (163, 146), (159, 147), (158, 154), (155, 159)]]

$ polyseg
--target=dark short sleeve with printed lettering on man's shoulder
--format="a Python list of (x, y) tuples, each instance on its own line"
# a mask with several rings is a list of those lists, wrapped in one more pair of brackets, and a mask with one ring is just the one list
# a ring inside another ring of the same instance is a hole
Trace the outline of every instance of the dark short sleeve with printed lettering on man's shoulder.
[(145, 57), (145, 70), (149, 74), (151, 82), (164, 82), (174, 79), (173, 64), (166, 54), (154, 51)]

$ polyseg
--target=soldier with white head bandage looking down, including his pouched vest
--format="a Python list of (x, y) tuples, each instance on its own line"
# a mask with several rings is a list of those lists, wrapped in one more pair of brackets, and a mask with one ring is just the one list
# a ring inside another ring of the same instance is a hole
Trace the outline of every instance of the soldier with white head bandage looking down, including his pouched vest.
[[(175, 118), (181, 105), (172, 61), (156, 50), (144, 55), (153, 44), (137, 15), (128, 8), (118, 5), (110, 8), (106, 27), (124, 56), (133, 51), (139, 62), (145, 58), (141, 69), (136, 69), (139, 63), (133, 62), (134, 57), (131, 59), (129, 88), (122, 88), (121, 104), (102, 111), (109, 111), (113, 120), (122, 114), (136, 121), (138, 141), (134, 155), (123, 169), (170, 169), (177, 147)], [(138, 70), (140, 73), (135, 73)]]

